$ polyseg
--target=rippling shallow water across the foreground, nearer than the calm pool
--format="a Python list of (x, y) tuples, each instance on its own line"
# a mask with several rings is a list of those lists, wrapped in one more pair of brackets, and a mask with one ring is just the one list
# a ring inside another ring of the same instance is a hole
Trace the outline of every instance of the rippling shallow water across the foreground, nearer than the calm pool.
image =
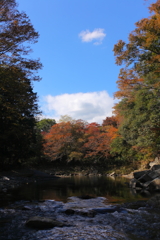
[(104, 200), (71, 197), (67, 203), (16, 202), (0, 209), (0, 239), (160, 239), (160, 196), (134, 205), (111, 206)]

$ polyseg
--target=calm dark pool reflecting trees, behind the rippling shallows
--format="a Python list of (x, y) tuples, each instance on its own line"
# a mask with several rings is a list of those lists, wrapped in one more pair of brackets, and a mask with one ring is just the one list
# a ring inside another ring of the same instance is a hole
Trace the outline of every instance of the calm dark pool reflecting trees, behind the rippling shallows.
[(15, 200), (56, 200), (67, 202), (68, 197), (105, 197), (109, 204), (147, 200), (134, 192), (125, 178), (75, 176), (35, 182), (16, 190)]

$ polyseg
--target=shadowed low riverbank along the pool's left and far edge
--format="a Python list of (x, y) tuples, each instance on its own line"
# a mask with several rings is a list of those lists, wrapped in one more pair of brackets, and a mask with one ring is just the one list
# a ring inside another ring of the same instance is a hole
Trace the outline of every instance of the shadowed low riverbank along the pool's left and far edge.
[[(54, 179), (57, 177), (70, 177), (70, 176), (107, 176), (110, 175), (106, 172), (96, 168), (83, 169), (82, 167), (50, 167), (39, 169), (26, 168), (15, 169), (10, 171), (0, 172), (0, 194), (7, 193), (15, 188), (24, 184), (34, 182), (40, 179)], [(112, 172), (111, 172), (112, 175)]]

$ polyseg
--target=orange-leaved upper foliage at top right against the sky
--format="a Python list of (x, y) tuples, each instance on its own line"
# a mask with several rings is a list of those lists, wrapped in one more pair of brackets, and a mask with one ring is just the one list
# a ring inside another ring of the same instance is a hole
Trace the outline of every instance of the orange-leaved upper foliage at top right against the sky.
[(149, 7), (150, 17), (143, 18), (129, 34), (129, 42), (119, 40), (114, 46), (116, 64), (136, 71), (139, 76), (156, 72), (159, 76), (160, 64), (160, 0)]

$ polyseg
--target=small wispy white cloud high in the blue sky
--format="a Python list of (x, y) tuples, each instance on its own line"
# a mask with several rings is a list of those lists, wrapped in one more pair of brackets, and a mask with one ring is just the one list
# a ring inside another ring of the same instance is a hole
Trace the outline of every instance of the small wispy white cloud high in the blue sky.
[(82, 42), (95, 41), (95, 45), (101, 44), (105, 36), (106, 34), (104, 33), (104, 29), (102, 28), (94, 29), (93, 32), (86, 30), (79, 33), (79, 37), (81, 38)]

